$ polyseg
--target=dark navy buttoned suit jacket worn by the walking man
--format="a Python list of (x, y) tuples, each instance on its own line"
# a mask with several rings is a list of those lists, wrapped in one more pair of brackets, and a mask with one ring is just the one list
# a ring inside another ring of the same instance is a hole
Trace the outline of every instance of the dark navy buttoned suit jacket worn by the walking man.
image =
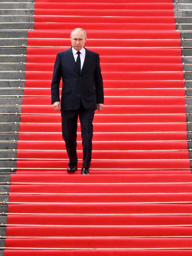
[(51, 102), (59, 99), (59, 83), (63, 81), (61, 110), (78, 109), (82, 101), (86, 109), (97, 109), (104, 102), (99, 54), (86, 50), (81, 73), (78, 73), (72, 47), (57, 53), (51, 82)]

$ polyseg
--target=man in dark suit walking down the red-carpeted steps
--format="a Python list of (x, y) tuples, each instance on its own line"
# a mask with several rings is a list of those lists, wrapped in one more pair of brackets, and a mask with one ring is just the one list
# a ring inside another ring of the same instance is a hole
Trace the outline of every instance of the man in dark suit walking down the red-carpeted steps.
[[(67, 172), (77, 170), (77, 119), (81, 123), (83, 166), (81, 174), (89, 174), (95, 109), (103, 110), (103, 81), (99, 54), (84, 48), (87, 39), (82, 28), (71, 32), (72, 47), (57, 53), (51, 82), (51, 103), (61, 110), (62, 135), (69, 156)], [(63, 81), (61, 102), (59, 84)]]

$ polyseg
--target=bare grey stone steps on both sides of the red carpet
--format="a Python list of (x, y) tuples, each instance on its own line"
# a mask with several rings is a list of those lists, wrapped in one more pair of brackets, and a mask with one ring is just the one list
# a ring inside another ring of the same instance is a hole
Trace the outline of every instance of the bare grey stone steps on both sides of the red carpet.
[[(17, 140), (25, 86), (25, 63), (28, 30), (34, 28), (34, 3), (25, 0), (0, 1), (0, 182), (10, 180), (16, 171)], [(192, 3), (191, 0), (174, 1), (175, 23), (180, 31), (183, 70), (185, 71), (186, 112), (188, 125), (188, 149), (192, 148)], [(189, 158), (192, 152), (189, 150)], [(191, 164), (192, 168), (192, 164)], [(0, 185), (1, 202), (9, 201), (9, 185)], [(7, 212), (2, 205), (1, 211)], [(0, 216), (0, 223), (7, 223), (6, 216)], [(1, 225), (1, 236), (6, 228)], [(0, 239), (4, 247), (4, 239)], [(4, 252), (0, 252), (0, 256)]]

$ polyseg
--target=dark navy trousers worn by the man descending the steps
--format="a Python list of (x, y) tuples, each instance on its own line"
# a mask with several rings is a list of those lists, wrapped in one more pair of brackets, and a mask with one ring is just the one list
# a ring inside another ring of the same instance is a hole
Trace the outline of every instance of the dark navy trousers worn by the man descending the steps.
[(81, 124), (81, 137), (83, 145), (83, 166), (90, 167), (93, 137), (94, 109), (86, 109), (82, 102), (77, 110), (62, 110), (62, 136), (69, 156), (69, 166), (77, 164), (77, 119)]

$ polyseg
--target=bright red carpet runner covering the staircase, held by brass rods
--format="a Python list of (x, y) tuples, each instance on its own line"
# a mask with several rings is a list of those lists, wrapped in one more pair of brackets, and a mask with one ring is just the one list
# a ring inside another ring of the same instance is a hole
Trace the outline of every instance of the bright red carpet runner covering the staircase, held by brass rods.
[[(66, 173), (50, 84), (75, 27), (100, 54), (91, 175)], [(35, 1), (5, 256), (192, 253), (180, 33), (172, 0)]]

